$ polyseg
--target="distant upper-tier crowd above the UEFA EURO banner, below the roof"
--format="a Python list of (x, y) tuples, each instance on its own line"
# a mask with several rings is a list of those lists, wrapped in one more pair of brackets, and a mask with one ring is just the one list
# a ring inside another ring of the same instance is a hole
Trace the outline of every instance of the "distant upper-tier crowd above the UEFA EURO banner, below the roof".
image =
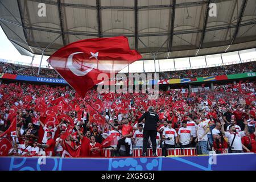
[[(171, 79), (171, 78), (195, 78), (195, 77), (204, 77), (204, 76), (230, 75), (235, 73), (247, 73), (247, 72), (255, 72), (255, 71), (256, 71), (256, 61), (252, 61), (248, 63), (222, 65), (220, 67), (212, 67), (212, 68), (160, 72), (159, 78), (160, 80)], [(38, 68), (0, 62), (0, 73), (37, 76)], [(40, 70), (39, 77), (60, 78), (60, 76), (53, 69), (47, 69), (47, 68), (42, 68)]]

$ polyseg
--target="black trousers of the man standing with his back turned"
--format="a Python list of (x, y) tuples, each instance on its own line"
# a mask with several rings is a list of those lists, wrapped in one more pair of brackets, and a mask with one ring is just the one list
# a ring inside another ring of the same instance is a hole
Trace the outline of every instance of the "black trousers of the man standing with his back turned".
[(143, 153), (147, 152), (148, 139), (150, 137), (153, 154), (156, 153), (156, 130), (144, 130), (143, 131)]

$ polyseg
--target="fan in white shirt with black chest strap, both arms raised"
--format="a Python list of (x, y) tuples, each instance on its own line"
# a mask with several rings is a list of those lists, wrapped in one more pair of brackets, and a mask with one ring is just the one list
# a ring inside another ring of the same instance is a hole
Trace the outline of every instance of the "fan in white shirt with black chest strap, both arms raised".
[(230, 131), (226, 132), (224, 130), (225, 122), (224, 121), (221, 122), (221, 133), (224, 134), (228, 138), (232, 153), (242, 153), (243, 152), (241, 139), (242, 139), (242, 137), (245, 136), (245, 133), (248, 131), (246, 119), (243, 121), (243, 124), (245, 124), (244, 131), (237, 132), (236, 127), (234, 125), (231, 125), (229, 127)]

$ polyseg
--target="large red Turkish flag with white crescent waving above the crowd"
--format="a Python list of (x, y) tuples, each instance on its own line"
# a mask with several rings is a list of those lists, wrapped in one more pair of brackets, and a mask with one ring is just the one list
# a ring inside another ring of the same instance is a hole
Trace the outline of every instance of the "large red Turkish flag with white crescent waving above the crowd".
[(85, 93), (100, 83), (100, 73), (118, 73), (142, 56), (129, 47), (124, 36), (86, 39), (60, 48), (48, 63), (84, 98)]

